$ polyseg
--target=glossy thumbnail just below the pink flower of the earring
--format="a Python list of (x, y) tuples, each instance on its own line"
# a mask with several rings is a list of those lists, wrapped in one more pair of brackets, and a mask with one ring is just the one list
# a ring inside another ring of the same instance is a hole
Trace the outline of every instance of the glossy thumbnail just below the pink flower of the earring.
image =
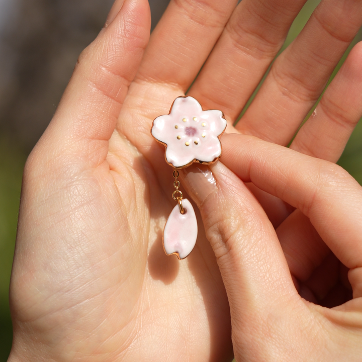
[(181, 170), (184, 187), (198, 206), (217, 190), (216, 180), (208, 166), (194, 164)]

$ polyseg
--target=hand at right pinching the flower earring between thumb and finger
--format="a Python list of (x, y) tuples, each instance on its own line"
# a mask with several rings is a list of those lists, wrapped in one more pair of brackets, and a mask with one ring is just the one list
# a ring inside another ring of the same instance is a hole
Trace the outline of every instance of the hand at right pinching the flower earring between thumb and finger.
[[(236, 361), (360, 361), (362, 187), (331, 162), (255, 137), (222, 141), (239, 178), (218, 162), (212, 174), (186, 169), (184, 185), (218, 258)], [(275, 230), (242, 181), (296, 211)]]

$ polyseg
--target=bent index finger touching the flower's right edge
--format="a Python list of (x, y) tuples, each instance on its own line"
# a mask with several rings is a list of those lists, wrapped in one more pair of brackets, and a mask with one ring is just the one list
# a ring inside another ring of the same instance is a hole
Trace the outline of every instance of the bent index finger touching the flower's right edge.
[[(338, 259), (348, 268), (360, 270), (362, 192), (346, 171), (253, 137), (232, 134), (222, 141), (226, 166), (245, 182), (300, 209)], [(360, 285), (350, 282), (353, 296), (362, 295), (362, 289), (355, 290)]]

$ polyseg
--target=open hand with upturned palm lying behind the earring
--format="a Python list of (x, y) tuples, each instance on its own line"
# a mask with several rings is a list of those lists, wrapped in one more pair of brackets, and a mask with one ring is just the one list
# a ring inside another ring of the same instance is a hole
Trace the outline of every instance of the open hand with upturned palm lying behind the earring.
[[(108, 26), (81, 54), (52, 122), (27, 161), (10, 292), (10, 360), (231, 359), (229, 304), (203, 228), (188, 260), (163, 253), (162, 229), (174, 205), (172, 169), (150, 126), (187, 91), (213, 49), (190, 95), (205, 109), (225, 111), (229, 132), (237, 132), (231, 124), (303, 3), (274, 1), (270, 11), (270, 0), (260, 6), (244, 0), (236, 10), (231, 0), (172, 1), (148, 43), (147, 2), (116, 1)], [(242, 132), (265, 138), (264, 128), (251, 130), (254, 117), (262, 120), (251, 112), (260, 110), (258, 102), (273, 91), (273, 100), (265, 98), (265, 112), (274, 116), (267, 120), (267, 136), (288, 142), (359, 28), (359, 3), (338, 4), (322, 4), (319, 22), (313, 18), (308, 32), (275, 63), (279, 71), (270, 73), (261, 98), (239, 123)], [(338, 38), (319, 28), (330, 23)], [(314, 41), (307, 43), (310, 33)], [(348, 113), (333, 123), (342, 120), (347, 130), (361, 108), (353, 78), (358, 49), (324, 96), (340, 107), (350, 102)], [(291, 59), (296, 59), (293, 68)], [(286, 89), (302, 94), (304, 87), (291, 79), (306, 69), (304, 86), (313, 92), (305, 102), (293, 103)], [(273, 80), (273, 73), (283, 70), (288, 73)], [(337, 90), (348, 77), (347, 92), (340, 95)], [(280, 91), (270, 88), (273, 84)], [(270, 112), (288, 98), (291, 102), (279, 112)], [(279, 123), (287, 110), (290, 122)], [(319, 124), (329, 124), (329, 114), (335, 112), (319, 112)], [(337, 134), (336, 153), (348, 138)], [(308, 139), (307, 133), (300, 144)], [(325, 147), (329, 140), (323, 142)], [(281, 210), (278, 222), (287, 215)]]

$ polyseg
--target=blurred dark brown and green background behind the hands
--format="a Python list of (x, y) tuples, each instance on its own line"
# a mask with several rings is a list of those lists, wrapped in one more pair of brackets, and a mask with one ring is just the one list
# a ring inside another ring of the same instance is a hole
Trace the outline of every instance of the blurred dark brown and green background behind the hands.
[[(150, 0), (153, 26), (166, 3), (167, 0)], [(306, 3), (284, 48), (298, 35), (318, 3), (318, 0)], [(111, 5), (111, 0), (18, 0), (16, 12), (10, 11), (10, 19), (17, 26), (8, 27), (5, 32), (4, 27), (0, 28), (3, 45), (12, 47), (7, 57), (17, 59), (12, 67), (4, 63), (13, 75), (0, 77), (0, 361), (7, 360), (12, 341), (8, 290), (24, 163), (54, 113), (77, 55), (95, 38)], [(359, 32), (348, 51), (361, 39)], [(4, 52), (0, 54), (2, 62), (9, 60), (3, 59)], [(346, 54), (333, 75), (345, 57)], [(360, 184), (361, 139), (362, 122), (359, 122), (338, 162)]]

